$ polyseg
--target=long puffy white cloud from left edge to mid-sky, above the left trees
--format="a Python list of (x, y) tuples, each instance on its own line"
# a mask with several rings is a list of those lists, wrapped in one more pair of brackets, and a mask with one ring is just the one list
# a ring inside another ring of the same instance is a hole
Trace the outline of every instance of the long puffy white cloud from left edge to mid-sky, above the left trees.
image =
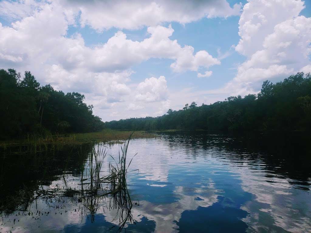
[(207, 51), (194, 54), (193, 47), (181, 47), (177, 40), (169, 39), (174, 32), (170, 25), (149, 27), (150, 37), (141, 42), (127, 39), (126, 34), (118, 31), (107, 43), (90, 48), (80, 34), (65, 37), (68, 24), (59, 5), (47, 4), (34, 16), (14, 22), (12, 27), (0, 25), (3, 63), (33, 67), (39, 60), (45, 66), (63, 68), (64, 72), (83, 67), (93, 73), (126, 70), (150, 58), (175, 60), (171, 67), (176, 72), (220, 64)]

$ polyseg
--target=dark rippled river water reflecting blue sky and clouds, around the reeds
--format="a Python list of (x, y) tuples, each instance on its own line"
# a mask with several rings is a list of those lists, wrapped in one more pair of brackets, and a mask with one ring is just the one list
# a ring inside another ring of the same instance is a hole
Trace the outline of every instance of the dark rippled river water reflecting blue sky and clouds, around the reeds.
[[(70, 194), (27, 201), (41, 188), (61, 189), (63, 177), (78, 187), (72, 150), (35, 158), (2, 151), (0, 232), (118, 231), (122, 208), (109, 197), (94, 200), (93, 214)], [(107, 150), (118, 157), (118, 145)], [(309, 135), (165, 133), (131, 140), (128, 157), (135, 153), (130, 170), (139, 172), (127, 178), (133, 221), (122, 232), (311, 232)]]

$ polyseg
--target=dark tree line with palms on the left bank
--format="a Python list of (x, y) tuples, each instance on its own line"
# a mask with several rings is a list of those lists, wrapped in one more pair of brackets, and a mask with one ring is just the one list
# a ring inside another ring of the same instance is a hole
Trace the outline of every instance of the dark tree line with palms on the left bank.
[(0, 138), (49, 133), (91, 132), (104, 128), (84, 95), (64, 94), (51, 85), (40, 86), (30, 71), (0, 70)]

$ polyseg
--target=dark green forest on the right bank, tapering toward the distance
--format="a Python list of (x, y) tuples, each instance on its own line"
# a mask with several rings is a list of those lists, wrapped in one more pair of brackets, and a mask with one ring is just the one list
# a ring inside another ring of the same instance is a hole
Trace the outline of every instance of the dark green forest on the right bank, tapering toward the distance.
[(261, 91), (244, 97), (230, 96), (213, 104), (187, 103), (161, 117), (130, 118), (105, 122), (118, 130), (310, 130), (311, 75), (299, 72), (273, 84), (264, 81)]

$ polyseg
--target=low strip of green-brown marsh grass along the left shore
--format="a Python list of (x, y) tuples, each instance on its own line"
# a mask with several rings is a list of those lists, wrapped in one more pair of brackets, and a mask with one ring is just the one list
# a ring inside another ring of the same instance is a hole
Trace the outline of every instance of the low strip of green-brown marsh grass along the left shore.
[[(49, 135), (49, 136), (31, 136), (25, 139), (15, 139), (0, 141), (0, 147), (20, 146), (27, 144), (44, 145), (59, 145), (59, 144), (83, 144), (89, 142), (117, 142), (118, 140), (128, 139), (131, 131), (121, 130), (102, 130), (93, 133), (73, 133), (67, 135)], [(155, 134), (145, 131), (135, 131), (132, 138), (153, 138)]]

